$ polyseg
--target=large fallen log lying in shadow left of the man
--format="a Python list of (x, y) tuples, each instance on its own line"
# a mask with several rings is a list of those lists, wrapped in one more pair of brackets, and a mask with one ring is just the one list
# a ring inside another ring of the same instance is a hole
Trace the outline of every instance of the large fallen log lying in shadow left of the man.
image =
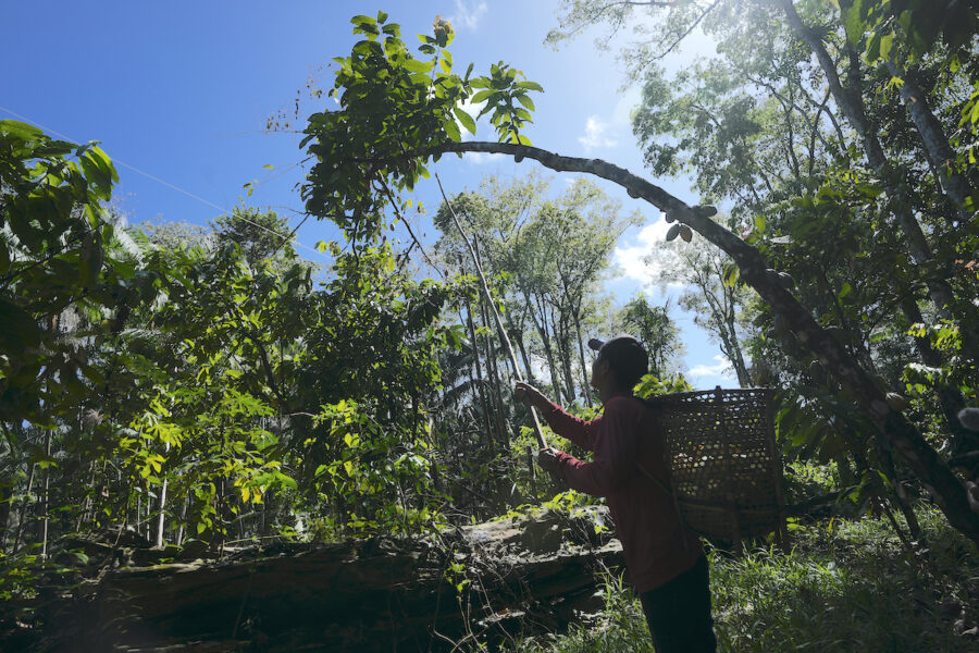
[(420, 540), (106, 570), (51, 611), (45, 649), (450, 651), (562, 630), (602, 608), (603, 571), (621, 572), (607, 520), (541, 510)]

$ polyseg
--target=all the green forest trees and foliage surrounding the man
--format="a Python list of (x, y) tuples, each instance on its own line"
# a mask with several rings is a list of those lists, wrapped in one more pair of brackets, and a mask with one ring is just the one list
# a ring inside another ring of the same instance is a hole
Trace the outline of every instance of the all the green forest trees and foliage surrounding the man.
[[(635, 4), (567, 1), (553, 38), (622, 29)], [(430, 260), (442, 278), (413, 272), (424, 246), (387, 236), (411, 208), (402, 192), (463, 151), (597, 175), (665, 211), (685, 230), (666, 246), (681, 303), (743, 385), (778, 389), (783, 455), (832, 463), (844, 501), (901, 513), (907, 541), (921, 537), (916, 496), (979, 541), (963, 486), (979, 433), (957, 417), (979, 387), (976, 19), (941, 4), (644, 8), (654, 29), (624, 50), (643, 88), (633, 128), (649, 174), (690, 174), (698, 206), (533, 147), (541, 85), (505, 62), (460, 72), (448, 23), (412, 49), (383, 12), (355, 16), (339, 108), (310, 115), (302, 145), (307, 212), (343, 233), (321, 244), (325, 270), (253, 207), (205, 238), (124, 227), (96, 144), (0, 122), (3, 564), (45, 560), (70, 533), (220, 552), (411, 535), (549, 498), (512, 381), (594, 415), (584, 343), (599, 325), (646, 340), (644, 392), (683, 387), (668, 311), (641, 298), (617, 311), (602, 291), (640, 219), (586, 178), (563, 194), (528, 175), (447, 195)], [(669, 75), (658, 59), (695, 28), (718, 56)], [(476, 122), (462, 104), (480, 102), (495, 140), (463, 140)], [(4, 578), (2, 595), (29, 594)]]

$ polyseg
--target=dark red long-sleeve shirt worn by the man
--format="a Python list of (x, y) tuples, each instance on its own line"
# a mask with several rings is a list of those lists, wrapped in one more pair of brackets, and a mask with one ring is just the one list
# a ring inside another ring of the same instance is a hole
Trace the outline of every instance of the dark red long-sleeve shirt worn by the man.
[(669, 486), (652, 408), (617, 396), (606, 402), (602, 417), (587, 422), (556, 404), (544, 412), (555, 433), (594, 452), (592, 463), (560, 453), (560, 471), (574, 490), (606, 498), (636, 591), (656, 589), (693, 567), (704, 555), (699, 539), (683, 528), (673, 500), (637, 467)]

